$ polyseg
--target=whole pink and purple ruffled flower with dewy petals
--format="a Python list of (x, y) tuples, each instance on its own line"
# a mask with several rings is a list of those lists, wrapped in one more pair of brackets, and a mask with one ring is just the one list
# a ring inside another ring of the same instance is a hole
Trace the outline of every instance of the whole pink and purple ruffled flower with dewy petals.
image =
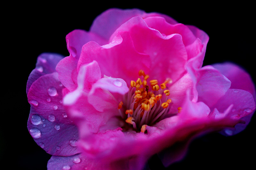
[(254, 84), (231, 63), (202, 67), (208, 39), (164, 14), (110, 9), (67, 35), (70, 56), (40, 55), (28, 130), (48, 169), (141, 170), (156, 153), (168, 166), (198, 135), (242, 131)]

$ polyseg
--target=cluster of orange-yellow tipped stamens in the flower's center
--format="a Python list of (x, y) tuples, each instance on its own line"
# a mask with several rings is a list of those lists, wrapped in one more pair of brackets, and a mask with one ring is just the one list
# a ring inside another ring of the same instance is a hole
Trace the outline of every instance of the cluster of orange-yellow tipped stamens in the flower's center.
[(132, 128), (144, 133), (147, 125), (152, 126), (166, 116), (172, 102), (168, 99), (170, 91), (166, 89), (166, 85), (172, 80), (167, 78), (160, 87), (157, 80), (150, 80), (149, 87), (147, 82), (149, 75), (140, 70), (139, 76), (143, 81), (140, 78), (131, 81), (129, 91), (119, 103), (118, 110), (126, 122), (123, 128)]

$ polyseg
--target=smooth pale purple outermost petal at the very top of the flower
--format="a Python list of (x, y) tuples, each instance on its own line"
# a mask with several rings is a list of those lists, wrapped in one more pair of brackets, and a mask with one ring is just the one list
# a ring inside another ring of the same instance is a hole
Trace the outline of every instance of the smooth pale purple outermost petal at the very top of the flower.
[(171, 24), (176, 24), (177, 22), (171, 17), (160, 14), (160, 13), (146, 13), (139, 9), (109, 9), (102, 14), (100, 14), (92, 23), (92, 27), (90, 29), (91, 32), (94, 32), (105, 39), (109, 39), (109, 37), (115, 32), (115, 30), (120, 27), (124, 22), (131, 19), (132, 17), (140, 16), (141, 18), (146, 18), (150, 16), (161, 16), (166, 19), (167, 22)]

